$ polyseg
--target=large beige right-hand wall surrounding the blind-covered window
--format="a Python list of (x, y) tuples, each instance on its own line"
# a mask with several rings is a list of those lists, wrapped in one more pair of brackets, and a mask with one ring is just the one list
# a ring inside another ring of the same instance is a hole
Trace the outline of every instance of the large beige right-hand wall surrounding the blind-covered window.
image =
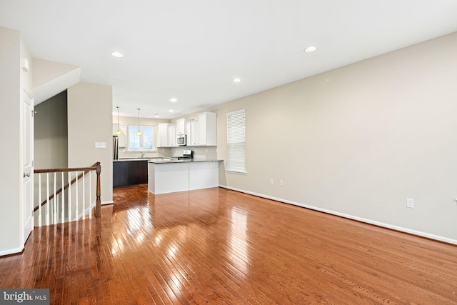
[(221, 184), (457, 243), (456, 54), (454, 33), (207, 109), (219, 159), (246, 109), (248, 175)]

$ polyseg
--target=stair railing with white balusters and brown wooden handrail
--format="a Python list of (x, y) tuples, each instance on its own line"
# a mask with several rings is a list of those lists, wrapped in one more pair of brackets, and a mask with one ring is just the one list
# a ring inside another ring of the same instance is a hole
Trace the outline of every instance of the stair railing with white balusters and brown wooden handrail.
[[(94, 172), (96, 174), (95, 203), (92, 197), (92, 175)], [(65, 175), (64, 173), (67, 174)], [(37, 201), (39, 204), (34, 208), (34, 213), (38, 211), (35, 216), (38, 220), (38, 226), (42, 226), (43, 222), (46, 226), (49, 226), (49, 224), (58, 224), (66, 221), (78, 221), (88, 215), (89, 219), (91, 219), (94, 205), (95, 216), (101, 216), (100, 162), (96, 162), (90, 167), (36, 169), (34, 174), (38, 175), (36, 177), (38, 179), (35, 179), (35, 181), (38, 181), (36, 187), (38, 188)], [(43, 184), (41, 183), (41, 174), (46, 174), (46, 181)], [(50, 188), (50, 184), (53, 184), (54, 187)], [(61, 185), (60, 189), (57, 189), (58, 185)], [(86, 192), (86, 187), (89, 188), (89, 194)], [(46, 199), (41, 201), (43, 194), (46, 194)], [(88, 206), (86, 206), (86, 200), (89, 200)], [(80, 209), (80, 204), (82, 209)]]

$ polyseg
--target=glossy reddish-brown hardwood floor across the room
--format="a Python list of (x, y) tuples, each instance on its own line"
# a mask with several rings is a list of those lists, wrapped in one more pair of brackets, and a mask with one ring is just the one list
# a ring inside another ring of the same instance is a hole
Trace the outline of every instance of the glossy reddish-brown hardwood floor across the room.
[(99, 219), (35, 229), (1, 288), (51, 304), (457, 304), (457, 246), (226, 189), (114, 189)]

